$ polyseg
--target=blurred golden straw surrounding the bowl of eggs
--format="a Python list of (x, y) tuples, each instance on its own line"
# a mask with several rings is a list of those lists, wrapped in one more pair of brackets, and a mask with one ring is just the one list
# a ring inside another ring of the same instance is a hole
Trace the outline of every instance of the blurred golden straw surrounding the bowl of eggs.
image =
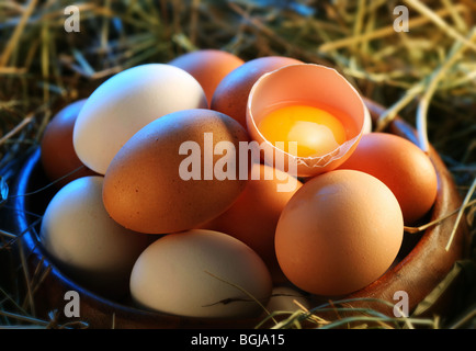
[[(420, 146), (431, 143), (453, 174), (464, 199), (458, 215), (474, 237), (474, 1), (82, 1), (76, 4), (79, 32), (68, 32), (65, 21), (71, 12), (65, 9), (70, 4), (63, 0), (0, 3), (2, 206), (22, 156), (38, 145), (61, 106), (88, 97), (111, 75), (128, 67), (166, 63), (197, 48), (220, 48), (246, 60), (284, 55), (333, 66), (362, 95), (387, 107), (376, 129), (385, 128), (397, 114), (415, 125)], [(395, 26), (403, 24), (397, 5), (408, 10), (408, 32)], [(21, 264), (12, 265), (10, 260), (16, 254), (19, 234), (0, 230), (0, 325), (55, 326), (54, 317), (36, 318), (31, 298), (20, 287), (25, 275)], [(443, 327), (475, 327), (474, 275), (465, 287), (467, 308)], [(326, 328), (350, 326), (349, 320), (319, 318), (321, 308), (338, 309), (337, 305), (297, 308), (276, 327), (298, 327), (302, 320)], [(399, 324), (369, 310), (352, 326), (366, 327), (376, 320), (385, 328), (442, 327), (439, 319)]]

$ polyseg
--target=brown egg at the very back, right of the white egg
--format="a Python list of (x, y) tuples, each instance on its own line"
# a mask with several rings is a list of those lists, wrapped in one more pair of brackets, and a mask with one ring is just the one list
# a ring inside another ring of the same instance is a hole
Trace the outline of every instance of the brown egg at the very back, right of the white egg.
[(220, 49), (197, 49), (169, 61), (169, 65), (182, 68), (199, 81), (208, 104), (222, 79), (242, 64), (245, 61), (238, 56)]

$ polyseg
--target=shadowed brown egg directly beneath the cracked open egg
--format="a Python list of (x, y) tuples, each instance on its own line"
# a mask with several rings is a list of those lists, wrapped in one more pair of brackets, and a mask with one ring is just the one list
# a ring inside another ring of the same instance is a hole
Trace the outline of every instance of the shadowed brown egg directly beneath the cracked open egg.
[(201, 228), (226, 233), (243, 241), (263, 259), (273, 281), (283, 282), (285, 278), (274, 251), (274, 233), (281, 212), (302, 183), (286, 172), (261, 163), (252, 165), (251, 174), (256, 176), (250, 177), (231, 207)]

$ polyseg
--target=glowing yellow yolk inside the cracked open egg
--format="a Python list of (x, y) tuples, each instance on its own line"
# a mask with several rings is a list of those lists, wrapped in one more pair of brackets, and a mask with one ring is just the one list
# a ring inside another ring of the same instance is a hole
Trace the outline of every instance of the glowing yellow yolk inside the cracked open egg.
[[(342, 123), (329, 112), (308, 105), (288, 105), (265, 115), (259, 129), (271, 144), (284, 141), (284, 151), (291, 152), (290, 141), (297, 143), (294, 156), (324, 156), (345, 141)], [(294, 152), (292, 152), (294, 154)]]

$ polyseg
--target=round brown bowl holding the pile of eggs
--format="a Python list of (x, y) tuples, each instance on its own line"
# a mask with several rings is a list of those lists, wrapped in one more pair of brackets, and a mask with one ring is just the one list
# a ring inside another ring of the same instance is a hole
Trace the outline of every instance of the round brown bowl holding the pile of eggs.
[[(375, 122), (383, 107), (367, 100), (365, 102)], [(399, 117), (390, 124), (386, 132), (415, 141), (415, 129)], [(450, 172), (433, 148), (430, 150), (430, 158), (438, 171), (439, 190), (437, 202), (428, 220), (442, 217), (456, 210), (462, 203)], [(131, 307), (127, 302), (113, 302), (101, 297), (76, 284), (50, 263), (38, 245), (38, 218), (56, 191), (54, 186), (27, 196), (15, 196), (42, 189), (46, 184), (48, 184), (48, 180), (39, 162), (39, 149), (35, 149), (26, 158), (11, 185), (11, 203), (7, 206), (7, 208), (11, 208), (11, 213), (5, 216), (12, 222), (15, 233), (22, 234), (22, 244), (29, 252), (27, 260), (31, 265), (29, 271), (34, 272), (36, 270), (36, 274), (38, 274), (38, 270), (39, 274), (47, 272), (46, 279), (37, 286), (34, 295), (38, 317), (47, 318), (48, 312), (56, 309), (58, 310), (58, 324), (80, 320), (86, 322), (89, 328), (97, 329), (253, 328), (263, 320), (264, 316), (250, 319), (204, 319), (145, 312)], [(467, 247), (468, 229), (464, 224), (458, 227), (450, 250), (445, 251), (455, 217), (452, 216), (423, 233), (406, 234), (398, 262), (371, 285), (342, 298), (371, 297), (395, 303), (394, 293), (404, 291), (408, 293), (409, 310), (411, 312), (442, 281), (454, 262), (465, 256), (464, 249)], [(78, 318), (68, 318), (63, 313), (68, 303), (65, 301), (67, 291), (79, 293), (80, 316)], [(450, 298), (446, 297), (442, 304), (438, 304), (437, 310), (431, 312), (445, 313)], [(387, 315), (393, 313), (392, 308), (386, 305), (366, 301), (355, 301), (352, 305), (371, 307)]]

